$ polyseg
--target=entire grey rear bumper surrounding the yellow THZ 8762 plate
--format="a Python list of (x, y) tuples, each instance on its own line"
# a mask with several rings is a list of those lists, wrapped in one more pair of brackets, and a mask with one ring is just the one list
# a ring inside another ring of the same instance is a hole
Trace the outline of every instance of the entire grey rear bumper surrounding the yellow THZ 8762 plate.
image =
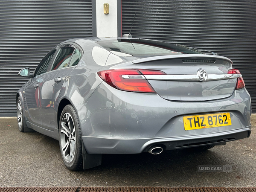
[[(152, 145), (164, 150), (221, 145), (250, 136), (250, 95), (246, 89), (207, 102), (174, 102), (157, 94), (97, 87), (78, 110), (81, 135), (90, 154), (136, 154)], [(230, 113), (232, 125), (185, 130), (183, 117)]]

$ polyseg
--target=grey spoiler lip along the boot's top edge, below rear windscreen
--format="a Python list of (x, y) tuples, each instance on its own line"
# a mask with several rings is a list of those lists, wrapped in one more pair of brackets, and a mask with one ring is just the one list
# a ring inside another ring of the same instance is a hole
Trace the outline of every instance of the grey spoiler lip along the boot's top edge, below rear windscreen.
[(223, 57), (223, 56), (219, 56), (219, 55), (203, 55), (203, 54), (186, 54), (186, 55), (161, 55), (161, 56), (154, 56), (154, 57), (146, 57), (146, 58), (140, 58), (140, 59), (136, 59), (134, 61), (131, 61), (133, 64), (140, 64), (140, 63), (145, 63), (145, 62), (150, 62), (150, 61), (161, 61), (161, 60), (166, 60), (166, 59), (176, 59), (176, 58), (193, 58), (193, 59), (197, 59), (197, 58), (215, 58), (215, 59), (221, 59), (224, 61), (228, 61), (231, 64), (232, 61), (227, 58), (227, 57)]

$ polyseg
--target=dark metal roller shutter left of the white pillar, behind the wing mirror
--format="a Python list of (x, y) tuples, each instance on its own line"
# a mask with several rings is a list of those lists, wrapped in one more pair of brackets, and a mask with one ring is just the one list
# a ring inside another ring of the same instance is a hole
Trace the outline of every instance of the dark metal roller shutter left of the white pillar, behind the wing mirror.
[(16, 92), (60, 42), (92, 36), (91, 0), (0, 0), (0, 116), (16, 113)]

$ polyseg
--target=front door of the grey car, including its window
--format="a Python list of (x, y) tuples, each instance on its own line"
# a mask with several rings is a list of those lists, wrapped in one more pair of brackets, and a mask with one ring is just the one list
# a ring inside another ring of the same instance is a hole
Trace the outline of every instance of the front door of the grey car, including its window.
[(35, 69), (34, 77), (29, 79), (24, 90), (24, 96), (26, 100), (26, 107), (30, 118), (29, 122), (32, 124), (41, 126), (41, 112), (39, 106), (39, 92), (40, 84), (43, 81), (44, 74), (51, 63), (51, 60), (56, 52), (57, 47), (53, 48), (38, 64)]

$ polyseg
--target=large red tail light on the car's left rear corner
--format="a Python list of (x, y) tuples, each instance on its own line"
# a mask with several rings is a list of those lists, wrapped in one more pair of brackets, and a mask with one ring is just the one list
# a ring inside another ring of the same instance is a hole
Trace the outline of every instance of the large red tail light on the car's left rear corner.
[(166, 73), (158, 70), (105, 70), (98, 72), (103, 81), (116, 89), (140, 93), (156, 93), (143, 74), (163, 75)]

